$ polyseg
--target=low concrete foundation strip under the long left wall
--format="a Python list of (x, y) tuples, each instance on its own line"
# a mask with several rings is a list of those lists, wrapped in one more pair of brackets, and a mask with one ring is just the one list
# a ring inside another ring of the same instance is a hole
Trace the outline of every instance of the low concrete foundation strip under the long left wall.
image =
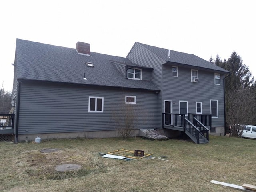
[[(47, 139), (63, 139), (63, 138), (113, 138), (120, 137), (117, 130), (112, 131), (91, 131), (91, 132), (75, 132), (75, 133), (47, 133), (47, 134), (24, 134), (18, 135), (18, 142), (34, 141), (37, 136), (42, 140)], [(139, 130), (132, 131), (133, 136), (139, 136)]]

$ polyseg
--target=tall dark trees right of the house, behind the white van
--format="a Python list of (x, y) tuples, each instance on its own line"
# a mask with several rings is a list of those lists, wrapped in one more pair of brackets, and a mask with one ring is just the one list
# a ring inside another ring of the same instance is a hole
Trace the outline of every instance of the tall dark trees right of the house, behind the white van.
[(241, 136), (245, 125), (256, 125), (256, 81), (243, 64), (242, 58), (232, 52), (226, 60), (216, 56), (210, 62), (230, 72), (225, 78), (226, 133)]

